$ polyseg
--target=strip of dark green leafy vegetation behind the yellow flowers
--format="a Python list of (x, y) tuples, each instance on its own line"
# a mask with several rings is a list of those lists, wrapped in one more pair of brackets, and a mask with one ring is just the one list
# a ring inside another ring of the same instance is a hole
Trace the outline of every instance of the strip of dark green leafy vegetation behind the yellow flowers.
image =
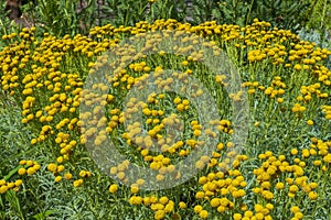
[(0, 0), (1, 35), (10, 22), (36, 25), (57, 36), (87, 33), (95, 25), (134, 25), (138, 21), (175, 19), (199, 24), (207, 20), (246, 25), (253, 19), (293, 32), (331, 29), (331, 0)]

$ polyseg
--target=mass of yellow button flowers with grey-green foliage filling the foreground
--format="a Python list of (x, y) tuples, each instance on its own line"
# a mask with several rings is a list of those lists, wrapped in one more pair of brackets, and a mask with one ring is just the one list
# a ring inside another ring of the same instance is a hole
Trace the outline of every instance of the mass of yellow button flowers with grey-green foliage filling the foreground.
[(1, 31), (0, 219), (331, 219), (330, 48), (152, 15)]

